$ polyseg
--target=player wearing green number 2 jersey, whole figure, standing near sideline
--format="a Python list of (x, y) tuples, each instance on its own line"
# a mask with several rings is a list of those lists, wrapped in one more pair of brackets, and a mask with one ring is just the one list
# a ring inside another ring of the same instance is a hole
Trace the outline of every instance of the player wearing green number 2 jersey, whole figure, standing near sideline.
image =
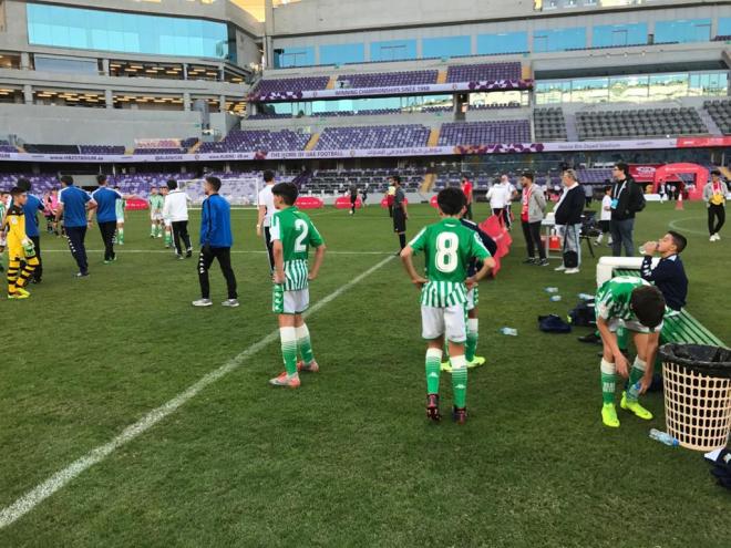
[[(271, 189), (278, 211), (271, 218), (271, 242), (275, 256), (272, 311), (279, 317), (279, 337), (285, 371), (269, 381), (274, 386), (297, 389), (299, 371), (320, 370), (302, 314), (309, 308), (309, 282), (315, 280), (325, 258), (325, 241), (310, 218), (295, 207), (297, 186), (279, 183)], [(308, 266), (309, 248), (315, 248), (312, 268)], [(302, 360), (297, 362), (297, 352)]]

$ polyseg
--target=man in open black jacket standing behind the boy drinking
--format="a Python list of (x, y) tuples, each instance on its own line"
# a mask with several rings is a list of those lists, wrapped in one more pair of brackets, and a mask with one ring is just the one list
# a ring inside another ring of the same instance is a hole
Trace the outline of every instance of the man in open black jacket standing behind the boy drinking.
[(625, 255), (634, 257), (635, 213), (640, 209), (642, 189), (629, 175), (629, 166), (624, 162), (618, 162), (612, 172), (615, 182), (611, 186), (611, 219), (609, 220), (611, 255), (620, 257), (624, 246)]

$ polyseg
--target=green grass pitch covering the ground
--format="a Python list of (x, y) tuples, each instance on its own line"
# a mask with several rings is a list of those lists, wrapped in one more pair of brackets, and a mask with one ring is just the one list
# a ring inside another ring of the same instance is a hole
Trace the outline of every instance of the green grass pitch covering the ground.
[[(436, 220), (410, 210), (410, 236)], [(383, 209), (311, 215), (330, 251), (313, 303), (395, 251)], [(233, 217), (238, 309), (218, 304), (216, 266), (216, 306), (191, 307), (195, 258), (162, 252), (144, 213), (128, 216), (112, 266), (91, 229), (87, 279), (73, 279), (63, 240), (42, 236), (43, 283), (0, 303), (0, 509), (275, 330), (255, 213)], [(689, 237), (688, 309), (729, 343), (731, 246), (708, 241), (704, 218), (701, 204), (649, 204), (636, 244), (671, 224)], [(513, 237), (497, 280), (481, 285), (487, 364), (470, 374), (466, 426), (424, 418), (418, 292), (393, 259), (308, 320), (321, 373), (299, 391), (267, 385), (282, 369), (268, 344), (0, 529), (0, 546), (729, 546), (731, 498), (701, 455), (647, 436), (665, 428), (661, 395), (645, 399), (650, 423), (620, 412), (618, 431), (603, 427), (598, 347), (576, 341), (585, 330), (537, 329), (538, 314), (593, 292), (595, 260), (585, 254), (577, 276), (524, 266), (519, 227)]]

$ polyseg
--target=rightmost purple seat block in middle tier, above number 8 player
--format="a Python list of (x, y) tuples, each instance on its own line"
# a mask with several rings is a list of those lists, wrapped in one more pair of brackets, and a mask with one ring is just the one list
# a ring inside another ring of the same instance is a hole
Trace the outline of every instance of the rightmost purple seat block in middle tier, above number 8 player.
[(442, 125), (440, 146), (480, 146), (501, 143), (529, 143), (527, 120), (500, 122), (455, 122)]

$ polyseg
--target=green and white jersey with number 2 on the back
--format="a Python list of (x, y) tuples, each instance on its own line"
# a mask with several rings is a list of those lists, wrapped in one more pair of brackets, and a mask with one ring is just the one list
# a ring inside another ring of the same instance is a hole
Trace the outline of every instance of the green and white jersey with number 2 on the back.
[(271, 241), (281, 241), (285, 259), (285, 291), (307, 289), (309, 266), (308, 250), (320, 247), (325, 241), (310, 218), (297, 209), (288, 207), (271, 217)]

